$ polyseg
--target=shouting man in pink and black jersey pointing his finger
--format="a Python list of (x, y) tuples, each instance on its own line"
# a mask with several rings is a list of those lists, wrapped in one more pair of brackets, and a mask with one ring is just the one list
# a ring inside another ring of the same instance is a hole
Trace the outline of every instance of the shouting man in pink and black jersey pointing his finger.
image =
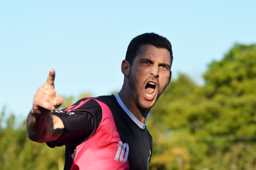
[(153, 143), (145, 120), (170, 83), (172, 60), (166, 38), (139, 35), (122, 62), (124, 84), (119, 93), (81, 99), (59, 111), (56, 106), (63, 98), (55, 91), (51, 69), (27, 118), (29, 139), (49, 147), (65, 145), (65, 170), (148, 169)]

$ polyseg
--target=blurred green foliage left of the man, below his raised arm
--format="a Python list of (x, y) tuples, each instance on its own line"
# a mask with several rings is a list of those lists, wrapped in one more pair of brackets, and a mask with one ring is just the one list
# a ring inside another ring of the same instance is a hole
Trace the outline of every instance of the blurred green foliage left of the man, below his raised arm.
[[(2, 120), (4, 110), (1, 113)], [(15, 117), (7, 120), (7, 126), (0, 129), (1, 170), (63, 170), (65, 147), (49, 148), (27, 137), (26, 122), (18, 129), (14, 127)], [(1, 127), (1, 122), (0, 122)]]

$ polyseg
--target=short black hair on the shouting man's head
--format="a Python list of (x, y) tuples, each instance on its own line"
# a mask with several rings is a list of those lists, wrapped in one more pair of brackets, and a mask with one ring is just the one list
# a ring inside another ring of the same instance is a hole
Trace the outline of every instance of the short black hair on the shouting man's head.
[(144, 33), (132, 39), (127, 48), (125, 56), (125, 60), (127, 60), (131, 66), (134, 58), (138, 55), (138, 51), (142, 45), (153, 45), (156, 48), (167, 49), (170, 52), (170, 60), (172, 66), (173, 52), (170, 41), (167, 38), (155, 33)]

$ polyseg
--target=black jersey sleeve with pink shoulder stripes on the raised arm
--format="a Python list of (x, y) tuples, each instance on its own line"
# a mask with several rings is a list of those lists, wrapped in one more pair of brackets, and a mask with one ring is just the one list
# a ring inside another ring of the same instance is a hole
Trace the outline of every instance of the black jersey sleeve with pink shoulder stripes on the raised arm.
[(46, 142), (49, 147), (78, 146), (94, 135), (102, 119), (102, 109), (92, 98), (81, 99), (75, 105), (51, 114), (61, 119), (64, 133), (56, 141)]

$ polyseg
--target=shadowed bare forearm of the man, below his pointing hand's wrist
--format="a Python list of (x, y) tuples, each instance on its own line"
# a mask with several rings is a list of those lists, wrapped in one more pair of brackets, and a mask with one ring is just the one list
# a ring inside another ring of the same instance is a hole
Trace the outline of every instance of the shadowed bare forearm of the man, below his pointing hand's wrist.
[(27, 135), (36, 142), (50, 141), (53, 136), (53, 118), (50, 113), (39, 115), (30, 112), (27, 117)]

